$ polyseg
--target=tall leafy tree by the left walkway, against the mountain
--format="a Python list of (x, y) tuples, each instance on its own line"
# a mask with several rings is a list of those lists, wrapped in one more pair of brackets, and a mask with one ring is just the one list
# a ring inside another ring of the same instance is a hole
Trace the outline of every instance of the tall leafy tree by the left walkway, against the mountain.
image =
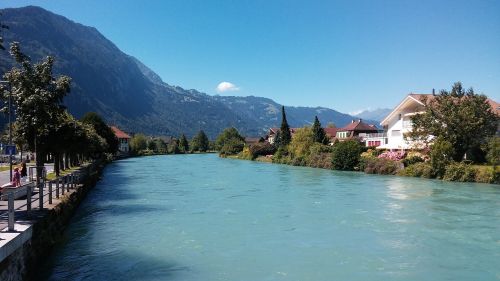
[[(30, 150), (36, 152), (36, 165), (39, 167), (37, 175), (41, 175), (49, 146), (47, 138), (56, 130), (64, 113), (62, 101), (70, 91), (71, 79), (52, 75), (52, 57), (32, 64), (29, 57), (21, 52), (17, 42), (11, 44), (10, 54), (17, 65), (5, 73), (4, 78), (9, 82), (12, 104), (16, 109), (17, 134), (25, 140)], [(6, 101), (9, 92), (5, 88), (2, 90), (2, 98)], [(8, 106), (3, 110), (7, 111)]]

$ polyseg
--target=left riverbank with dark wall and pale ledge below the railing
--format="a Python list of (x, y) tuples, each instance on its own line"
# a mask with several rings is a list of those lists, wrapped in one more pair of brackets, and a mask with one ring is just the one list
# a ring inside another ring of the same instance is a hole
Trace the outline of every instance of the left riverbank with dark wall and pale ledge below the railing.
[[(57, 188), (54, 193), (49, 193), (54, 198), (46, 198), (43, 209), (16, 211), (16, 218), (19, 219), (15, 222), (15, 231), (8, 231), (6, 228), (0, 232), (0, 238), (4, 240), (0, 252), (5, 255), (0, 262), (0, 280), (38, 279), (39, 265), (61, 240), (68, 222), (88, 191), (99, 180), (104, 166), (104, 162), (89, 164), (74, 171), (65, 180), (58, 181), (57, 187), (61, 184), (62, 189)], [(53, 191), (56, 188), (54, 182), (47, 182), (44, 189)], [(44, 196), (48, 197), (49, 194)]]

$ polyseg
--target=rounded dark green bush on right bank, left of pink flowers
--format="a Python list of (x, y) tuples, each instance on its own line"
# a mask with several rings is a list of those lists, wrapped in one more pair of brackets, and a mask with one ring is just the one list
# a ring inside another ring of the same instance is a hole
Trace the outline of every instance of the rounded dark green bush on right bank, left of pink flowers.
[(332, 151), (333, 168), (344, 171), (354, 170), (359, 164), (361, 152), (363, 152), (363, 148), (356, 140), (336, 143)]

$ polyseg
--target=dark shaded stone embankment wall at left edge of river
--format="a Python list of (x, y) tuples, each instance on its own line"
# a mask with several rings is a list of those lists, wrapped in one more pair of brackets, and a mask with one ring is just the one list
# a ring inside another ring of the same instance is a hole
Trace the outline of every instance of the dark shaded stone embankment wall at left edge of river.
[(81, 201), (99, 180), (104, 165), (93, 164), (88, 173), (82, 173), (82, 185), (35, 219), (31, 226), (31, 238), (0, 263), (1, 281), (38, 280), (36, 274), (41, 262), (61, 240), (64, 229)]

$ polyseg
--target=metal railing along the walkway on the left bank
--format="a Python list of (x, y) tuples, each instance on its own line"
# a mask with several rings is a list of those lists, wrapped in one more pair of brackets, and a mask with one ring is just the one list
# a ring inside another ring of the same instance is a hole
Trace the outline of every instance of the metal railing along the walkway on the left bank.
[[(84, 173), (90, 175), (91, 170), (93, 170), (93, 164), (54, 180), (46, 180), (46, 177), (42, 177), (38, 187), (36, 181), (29, 181), (19, 187), (4, 188), (0, 195), (0, 202), (2, 202), (0, 203), (0, 223), (5, 224), (6, 221), (8, 231), (15, 231), (16, 219), (29, 219), (33, 209), (41, 211), (50, 207), (54, 199), (59, 199), (65, 193), (77, 189), (83, 181)], [(4, 201), (7, 201), (7, 204), (4, 204)], [(38, 207), (33, 205), (38, 205)]]

